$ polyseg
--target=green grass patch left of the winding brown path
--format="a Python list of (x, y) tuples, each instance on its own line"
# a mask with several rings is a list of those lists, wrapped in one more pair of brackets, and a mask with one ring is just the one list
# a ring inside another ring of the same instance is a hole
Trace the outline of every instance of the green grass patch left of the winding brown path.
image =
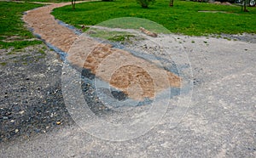
[[(41, 41), (26, 41), (33, 38), (21, 20), (23, 12), (43, 6), (33, 3), (6, 3), (0, 2), (0, 48), (25, 48), (29, 45), (42, 43)], [(8, 41), (8, 42), (6, 42)]]

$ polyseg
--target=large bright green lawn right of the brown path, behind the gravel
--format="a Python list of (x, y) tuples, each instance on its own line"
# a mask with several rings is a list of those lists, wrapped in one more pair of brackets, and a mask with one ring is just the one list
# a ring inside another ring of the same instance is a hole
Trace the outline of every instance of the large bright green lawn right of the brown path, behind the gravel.
[[(242, 32), (256, 33), (256, 8), (248, 8), (250, 12), (241, 12), (240, 6), (224, 6), (211, 3), (195, 3), (175, 1), (169, 7), (169, 1), (156, 0), (149, 8), (141, 8), (135, 0), (115, 0), (114, 2), (80, 3), (73, 10), (71, 6), (55, 8), (55, 18), (67, 24), (97, 25), (105, 20), (119, 17), (138, 17), (164, 25), (173, 33), (185, 35), (238, 34)], [(204, 13), (199, 11), (219, 11)], [(135, 28), (120, 21), (120, 27)]]

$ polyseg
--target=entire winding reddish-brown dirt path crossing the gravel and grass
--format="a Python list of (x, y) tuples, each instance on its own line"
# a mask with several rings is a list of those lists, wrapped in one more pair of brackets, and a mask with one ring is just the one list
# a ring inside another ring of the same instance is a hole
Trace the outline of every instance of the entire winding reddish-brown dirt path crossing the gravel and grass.
[(181, 86), (181, 78), (172, 72), (127, 51), (87, 37), (79, 37), (67, 27), (59, 25), (50, 12), (69, 4), (71, 3), (54, 3), (29, 10), (23, 19), (45, 42), (66, 52), (67, 59), (73, 65), (90, 69), (96, 76), (132, 99), (152, 99), (155, 93), (167, 87)]

